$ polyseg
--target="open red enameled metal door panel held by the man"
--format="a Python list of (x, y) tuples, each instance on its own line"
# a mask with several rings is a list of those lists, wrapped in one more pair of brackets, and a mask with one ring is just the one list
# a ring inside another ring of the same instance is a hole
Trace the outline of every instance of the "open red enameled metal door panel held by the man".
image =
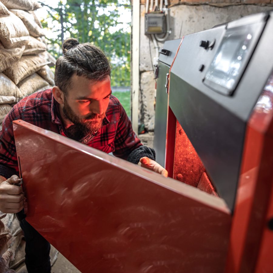
[(224, 271), (220, 198), (24, 121), (14, 135), (26, 220), (80, 271)]

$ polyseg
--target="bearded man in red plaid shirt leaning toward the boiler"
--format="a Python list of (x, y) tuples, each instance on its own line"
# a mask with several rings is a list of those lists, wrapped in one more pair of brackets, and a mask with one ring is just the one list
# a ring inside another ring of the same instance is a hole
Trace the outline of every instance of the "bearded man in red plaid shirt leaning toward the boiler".
[[(24, 206), (22, 188), (14, 185), (20, 180), (13, 120), (22, 119), (106, 153), (113, 152), (167, 177), (167, 171), (154, 161), (154, 150), (140, 143), (119, 100), (111, 95), (111, 65), (105, 54), (72, 38), (64, 41), (62, 49), (64, 54), (56, 62), (56, 86), (22, 99), (3, 121), (0, 210), (4, 213), (17, 213)], [(25, 220), (20, 226), (26, 239), (28, 272), (50, 272), (49, 243)]]

